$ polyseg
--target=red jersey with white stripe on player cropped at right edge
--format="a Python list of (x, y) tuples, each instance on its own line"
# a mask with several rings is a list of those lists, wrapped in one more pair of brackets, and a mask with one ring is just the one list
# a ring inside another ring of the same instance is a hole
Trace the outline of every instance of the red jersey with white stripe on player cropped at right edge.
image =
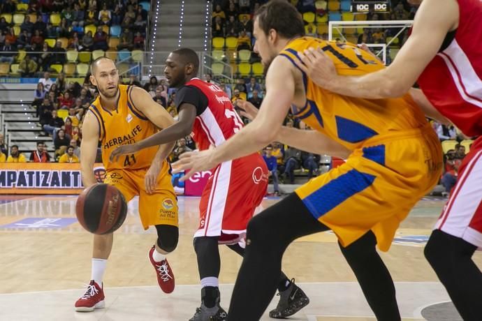
[(441, 114), (466, 135), (476, 136), (482, 135), (482, 1), (458, 4), (458, 29), (448, 33), (418, 84)]

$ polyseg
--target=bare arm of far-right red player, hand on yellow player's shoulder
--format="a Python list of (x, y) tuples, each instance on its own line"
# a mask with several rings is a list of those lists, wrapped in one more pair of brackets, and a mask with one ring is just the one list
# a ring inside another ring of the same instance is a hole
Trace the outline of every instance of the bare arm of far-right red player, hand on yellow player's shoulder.
[(299, 64), (320, 87), (344, 96), (379, 99), (407, 93), (439, 51), (448, 31), (458, 27), (456, 0), (424, 0), (415, 16), (414, 29), (388, 68), (353, 77), (337, 75), (333, 61), (321, 50), (300, 55)]

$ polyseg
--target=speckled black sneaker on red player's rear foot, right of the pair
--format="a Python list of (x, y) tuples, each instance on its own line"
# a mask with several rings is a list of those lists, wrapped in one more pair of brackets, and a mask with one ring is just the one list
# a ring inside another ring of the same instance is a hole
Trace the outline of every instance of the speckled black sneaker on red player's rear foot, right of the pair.
[(291, 279), (291, 284), (283, 292), (279, 292), (279, 302), (275, 310), (270, 311), (270, 318), (284, 319), (289, 317), (309, 304), (309, 298), (305, 292), (295, 285), (295, 279)]

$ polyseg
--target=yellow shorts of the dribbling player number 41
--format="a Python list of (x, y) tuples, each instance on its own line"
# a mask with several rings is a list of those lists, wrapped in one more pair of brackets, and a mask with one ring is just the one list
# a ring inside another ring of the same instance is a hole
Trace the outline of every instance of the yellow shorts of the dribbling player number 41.
[(105, 173), (105, 184), (115, 186), (126, 198), (126, 202), (139, 195), (139, 215), (144, 230), (151, 225), (174, 225), (178, 223), (177, 197), (174, 193), (171, 175), (160, 174), (156, 190), (152, 194), (145, 191), (144, 177), (146, 169), (140, 170), (108, 170)]

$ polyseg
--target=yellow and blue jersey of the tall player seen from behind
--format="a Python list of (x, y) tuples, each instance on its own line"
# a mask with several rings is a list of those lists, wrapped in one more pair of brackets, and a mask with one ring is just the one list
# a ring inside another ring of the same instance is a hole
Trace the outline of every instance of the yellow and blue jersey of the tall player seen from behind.
[[(297, 38), (280, 55), (289, 59), (309, 47), (320, 47), (333, 59), (339, 75), (365, 75), (385, 68), (371, 54), (351, 43), (335, 43), (312, 37)], [(376, 135), (420, 128), (426, 124), (423, 112), (406, 94), (400, 98), (367, 100), (334, 94), (322, 89), (305, 73), (307, 101), (302, 108), (292, 106), (295, 117), (325, 133), (349, 149), (356, 149)]]

